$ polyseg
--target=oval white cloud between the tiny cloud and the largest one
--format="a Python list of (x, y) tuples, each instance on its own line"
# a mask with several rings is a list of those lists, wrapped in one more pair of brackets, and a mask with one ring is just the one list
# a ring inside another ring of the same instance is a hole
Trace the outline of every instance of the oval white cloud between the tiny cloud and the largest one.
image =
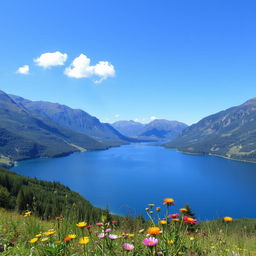
[(67, 58), (68, 55), (66, 53), (61, 53), (59, 51), (46, 52), (34, 59), (34, 62), (40, 67), (49, 68), (53, 66), (63, 66)]

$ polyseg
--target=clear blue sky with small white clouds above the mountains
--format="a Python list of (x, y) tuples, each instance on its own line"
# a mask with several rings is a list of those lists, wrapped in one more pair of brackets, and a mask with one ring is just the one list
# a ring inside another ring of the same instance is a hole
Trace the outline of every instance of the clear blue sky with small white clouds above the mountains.
[(0, 89), (104, 122), (187, 124), (256, 96), (255, 0), (3, 0)]

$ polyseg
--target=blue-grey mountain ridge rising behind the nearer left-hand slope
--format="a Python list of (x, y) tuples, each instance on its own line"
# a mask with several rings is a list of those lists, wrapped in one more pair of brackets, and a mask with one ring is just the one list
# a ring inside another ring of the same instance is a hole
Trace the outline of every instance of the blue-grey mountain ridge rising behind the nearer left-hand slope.
[(107, 141), (109, 145), (120, 145), (133, 141), (115, 130), (110, 124), (101, 123), (99, 119), (83, 110), (46, 101), (31, 101), (19, 96), (9, 95), (19, 106), (28, 112), (50, 120), (62, 127)]

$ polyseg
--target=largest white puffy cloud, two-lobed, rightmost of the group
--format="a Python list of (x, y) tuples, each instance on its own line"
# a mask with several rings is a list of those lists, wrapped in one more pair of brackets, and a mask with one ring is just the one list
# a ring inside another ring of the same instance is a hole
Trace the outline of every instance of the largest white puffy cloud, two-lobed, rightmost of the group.
[(76, 57), (71, 65), (67, 67), (64, 74), (73, 78), (91, 78), (98, 77), (95, 83), (101, 83), (108, 77), (115, 76), (115, 68), (108, 61), (99, 61), (95, 66), (90, 65), (91, 59), (84, 54)]

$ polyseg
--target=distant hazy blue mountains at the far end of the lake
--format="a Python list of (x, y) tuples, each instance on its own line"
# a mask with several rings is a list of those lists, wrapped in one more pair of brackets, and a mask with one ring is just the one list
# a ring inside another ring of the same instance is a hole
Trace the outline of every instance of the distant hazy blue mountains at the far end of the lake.
[(118, 121), (113, 123), (112, 126), (128, 136), (155, 140), (173, 139), (187, 127), (184, 123), (165, 119), (155, 119), (148, 124), (134, 121)]

